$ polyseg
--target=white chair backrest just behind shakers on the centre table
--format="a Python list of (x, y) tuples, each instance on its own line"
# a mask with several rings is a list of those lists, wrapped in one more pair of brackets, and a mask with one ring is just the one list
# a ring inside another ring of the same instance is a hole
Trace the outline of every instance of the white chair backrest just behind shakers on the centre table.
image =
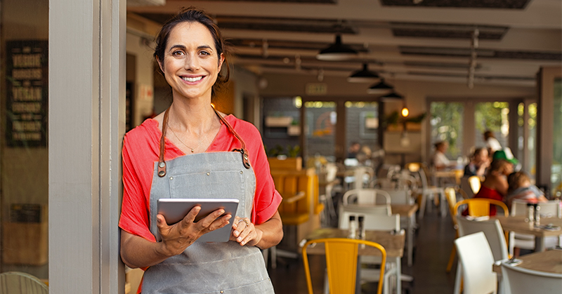
[(386, 215), (384, 213), (377, 213), (374, 211), (367, 211), (362, 208), (344, 207), (340, 211), (339, 215), (339, 225), (340, 229), (349, 228), (349, 217), (351, 215), (355, 216), (355, 220), (358, 216), (362, 215), (365, 217), (364, 225), (365, 229), (371, 229), (376, 231), (396, 231), (400, 232), (400, 215)]

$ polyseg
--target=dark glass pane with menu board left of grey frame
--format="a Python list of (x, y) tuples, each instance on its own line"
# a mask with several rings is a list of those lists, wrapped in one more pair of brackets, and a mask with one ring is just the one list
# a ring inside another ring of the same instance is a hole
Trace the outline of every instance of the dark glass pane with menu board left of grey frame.
[(48, 0), (0, 0), (0, 272), (48, 279)]

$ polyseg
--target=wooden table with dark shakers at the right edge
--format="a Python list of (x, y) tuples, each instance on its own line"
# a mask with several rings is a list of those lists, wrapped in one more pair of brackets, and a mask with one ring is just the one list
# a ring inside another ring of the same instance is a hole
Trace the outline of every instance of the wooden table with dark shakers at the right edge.
[[(535, 236), (535, 252), (542, 252), (544, 248), (544, 238), (547, 236), (560, 236), (562, 229), (558, 231), (549, 231), (535, 227), (532, 222), (525, 222), (525, 216), (501, 216), (496, 215), (495, 218), (502, 224), (504, 231), (516, 232), (521, 234), (530, 234)], [(562, 227), (561, 218), (541, 218), (541, 225), (552, 224)]]

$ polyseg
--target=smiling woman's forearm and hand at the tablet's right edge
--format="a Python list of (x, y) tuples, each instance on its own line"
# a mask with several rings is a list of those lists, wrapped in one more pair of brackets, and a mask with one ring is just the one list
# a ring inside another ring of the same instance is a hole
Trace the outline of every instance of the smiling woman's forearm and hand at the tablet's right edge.
[(277, 245), (283, 239), (283, 226), (279, 212), (261, 225), (254, 225), (247, 218), (235, 218), (233, 234), (230, 240), (240, 245), (256, 246), (267, 249)]

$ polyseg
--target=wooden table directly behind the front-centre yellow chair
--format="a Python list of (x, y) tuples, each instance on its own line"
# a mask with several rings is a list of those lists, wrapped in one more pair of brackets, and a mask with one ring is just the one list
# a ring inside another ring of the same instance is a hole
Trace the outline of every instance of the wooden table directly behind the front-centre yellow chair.
[[(320, 228), (315, 229), (311, 234), (308, 234), (308, 236), (306, 236), (306, 241), (322, 238), (347, 238), (347, 236), (347, 229)], [(386, 250), (386, 260), (390, 258), (394, 258), (396, 260), (396, 279), (398, 280), (396, 291), (398, 294), (401, 294), (402, 283), (400, 282), (400, 275), (402, 273), (402, 267), (400, 262), (404, 254), (405, 234), (391, 234), (391, 232), (367, 230), (365, 231), (365, 240), (376, 242), (383, 246), (384, 250)], [(308, 246), (306, 253), (325, 254), (324, 244), (317, 243), (315, 246)], [(370, 246), (359, 248), (358, 254), (381, 256), (381, 252), (379, 250)], [(358, 267), (360, 267), (360, 265), (358, 265)]]

